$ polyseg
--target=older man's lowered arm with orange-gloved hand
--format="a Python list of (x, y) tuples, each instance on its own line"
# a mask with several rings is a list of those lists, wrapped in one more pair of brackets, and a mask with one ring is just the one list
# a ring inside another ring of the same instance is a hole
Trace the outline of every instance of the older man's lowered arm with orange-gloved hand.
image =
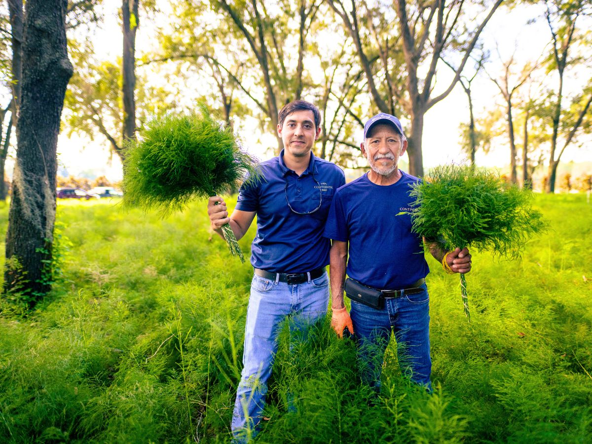
[(329, 253), (329, 276), (331, 279), (331, 326), (337, 336), (343, 337), (343, 330), (347, 327), (353, 334), (352, 318), (349, 317), (343, 302), (343, 282), (348, 263), (348, 242), (333, 240)]

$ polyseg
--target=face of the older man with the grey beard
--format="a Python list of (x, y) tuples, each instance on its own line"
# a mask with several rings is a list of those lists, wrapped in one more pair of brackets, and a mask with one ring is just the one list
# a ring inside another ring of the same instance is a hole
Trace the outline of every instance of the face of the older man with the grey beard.
[(397, 171), (399, 157), (407, 149), (407, 140), (389, 124), (379, 123), (371, 128), (360, 145), (372, 170), (381, 176), (390, 176)]

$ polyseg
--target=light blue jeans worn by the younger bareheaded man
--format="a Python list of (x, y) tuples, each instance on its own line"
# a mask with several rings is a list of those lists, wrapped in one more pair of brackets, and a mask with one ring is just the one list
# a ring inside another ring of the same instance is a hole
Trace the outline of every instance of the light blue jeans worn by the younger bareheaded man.
[(289, 320), (291, 342), (305, 340), (307, 328), (326, 316), (328, 304), (326, 272), (297, 285), (253, 276), (244, 332), (244, 367), (231, 423), (233, 442), (247, 442), (256, 435), (282, 321)]

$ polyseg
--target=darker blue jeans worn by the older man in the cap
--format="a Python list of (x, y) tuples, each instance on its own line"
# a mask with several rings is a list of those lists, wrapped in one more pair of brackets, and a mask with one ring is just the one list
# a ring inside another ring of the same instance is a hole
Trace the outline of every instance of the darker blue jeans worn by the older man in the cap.
[(422, 288), (418, 294), (386, 299), (381, 310), (352, 301), (350, 316), (358, 342), (360, 375), (362, 382), (376, 391), (380, 390), (380, 374), (391, 329), (397, 341), (401, 372), (432, 391), (429, 295), (426, 284)]

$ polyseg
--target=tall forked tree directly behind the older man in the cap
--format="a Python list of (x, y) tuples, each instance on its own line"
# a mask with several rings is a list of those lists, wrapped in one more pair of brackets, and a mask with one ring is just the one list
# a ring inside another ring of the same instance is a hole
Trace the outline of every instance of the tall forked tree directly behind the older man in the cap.
[[(350, 37), (355, 42), (361, 65), (368, 80), (368, 91), (372, 102), (379, 111), (394, 111), (393, 99), (400, 102), (401, 107), (410, 119), (411, 130), (407, 153), (409, 156), (409, 170), (413, 175), (423, 175), (422, 136), (423, 122), (426, 112), (437, 102), (446, 98), (459, 81), (462, 70), (477, 43), (482, 30), (491, 16), (501, 5), (503, 0), (488, 2), (491, 7), (483, 16), (475, 14), (475, 4), (465, 4), (464, 1), (432, 0), (430, 2), (407, 2), (395, 0), (394, 11), (388, 8), (370, 9), (366, 2), (351, 0), (346, 5), (342, 0), (329, 0), (330, 5), (341, 18)], [(364, 8), (366, 14), (359, 14), (358, 9)], [(466, 9), (471, 7), (471, 11)], [(384, 46), (378, 49), (385, 54), (385, 59), (392, 59), (398, 54), (404, 57), (404, 76), (389, 75), (389, 69), (384, 64), (382, 75), (376, 76), (370, 63), (368, 54), (377, 51), (369, 39), (364, 39), (364, 26), (371, 27), (377, 20), (378, 12), (381, 17), (396, 15), (398, 20), (398, 35), (383, 38)], [(471, 17), (468, 17), (471, 14)], [(389, 43), (390, 40), (390, 43)], [(459, 58), (458, 68), (448, 86), (436, 96), (433, 96), (436, 83), (437, 62), (445, 53), (453, 53)], [(403, 83), (394, 81), (403, 78)], [(384, 79), (385, 85), (377, 85), (378, 79)], [(382, 92), (381, 92), (382, 91)]]

